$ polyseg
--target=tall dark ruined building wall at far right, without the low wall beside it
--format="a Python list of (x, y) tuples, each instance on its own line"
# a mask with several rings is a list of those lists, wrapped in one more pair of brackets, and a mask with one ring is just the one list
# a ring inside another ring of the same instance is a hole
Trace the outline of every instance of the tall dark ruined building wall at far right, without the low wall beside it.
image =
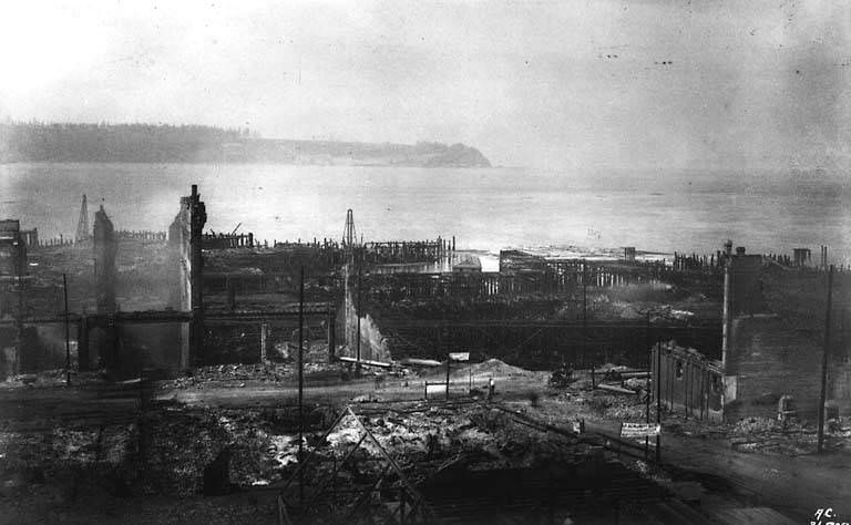
[[(803, 258), (799, 258), (801, 262)], [(809, 260), (809, 259), (807, 259)], [(804, 416), (818, 411), (824, 352), (827, 272), (823, 266), (787, 267), (734, 256), (726, 287), (725, 419), (773, 416), (791, 397)], [(851, 275), (833, 278), (827, 399), (851, 409), (847, 312)]]

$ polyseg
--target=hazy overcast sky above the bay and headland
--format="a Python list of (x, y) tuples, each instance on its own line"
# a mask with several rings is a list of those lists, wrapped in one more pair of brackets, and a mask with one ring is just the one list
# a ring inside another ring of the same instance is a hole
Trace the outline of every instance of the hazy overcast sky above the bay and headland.
[(463, 142), (494, 164), (851, 158), (851, 2), (13, 0), (0, 117)]

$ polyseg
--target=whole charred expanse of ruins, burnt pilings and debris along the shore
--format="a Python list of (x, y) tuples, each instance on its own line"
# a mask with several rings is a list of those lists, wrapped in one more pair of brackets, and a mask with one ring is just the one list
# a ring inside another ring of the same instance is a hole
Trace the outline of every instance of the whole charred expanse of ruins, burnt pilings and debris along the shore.
[(668, 435), (675, 459), (851, 435), (826, 247), (492, 271), (454, 236), (359, 238), (351, 210), (339, 239), (269, 241), (205, 230), (196, 186), (175, 204), (163, 231), (101, 206), (90, 233), (85, 198), (73, 239), (0, 222), (13, 518), (711, 523), (756, 496), (666, 463)]

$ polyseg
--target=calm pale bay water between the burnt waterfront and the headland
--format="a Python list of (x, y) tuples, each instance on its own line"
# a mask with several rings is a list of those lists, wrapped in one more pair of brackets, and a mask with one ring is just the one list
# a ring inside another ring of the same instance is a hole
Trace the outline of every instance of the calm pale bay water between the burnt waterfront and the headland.
[[(197, 164), (0, 165), (0, 217), (42, 237), (72, 236), (82, 194), (116, 228), (165, 230), (198, 184), (207, 228), (259, 239), (342, 236), (346, 209), (365, 240), (455, 235), (460, 247), (568, 246), (714, 253), (826, 244), (851, 261), (851, 191), (839, 177), (770, 172), (423, 169)], [(90, 222), (92, 219), (90, 218)]]

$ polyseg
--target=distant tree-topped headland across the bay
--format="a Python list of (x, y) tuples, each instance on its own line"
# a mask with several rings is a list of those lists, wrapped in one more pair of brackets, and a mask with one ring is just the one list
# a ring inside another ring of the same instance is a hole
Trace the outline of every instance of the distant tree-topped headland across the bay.
[(0, 163), (269, 163), (491, 167), (474, 147), (260, 138), (247, 130), (162, 124), (0, 124)]

